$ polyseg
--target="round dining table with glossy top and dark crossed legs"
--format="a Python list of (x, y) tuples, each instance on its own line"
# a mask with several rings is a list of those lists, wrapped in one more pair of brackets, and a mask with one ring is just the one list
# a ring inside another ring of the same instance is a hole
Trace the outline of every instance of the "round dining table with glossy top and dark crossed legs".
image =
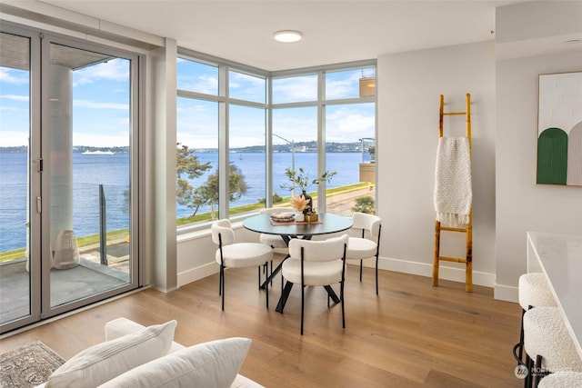
[[(285, 211), (285, 209), (282, 209), (282, 211)], [(259, 234), (278, 234), (283, 238), (285, 244), (288, 245), (292, 238), (311, 240), (312, 237), (316, 235), (335, 234), (346, 231), (353, 225), (352, 219), (343, 215), (322, 213), (318, 214), (318, 218), (318, 221), (312, 223), (296, 221), (282, 222), (271, 219), (271, 214), (257, 214), (246, 218), (246, 220), (243, 221), (243, 226), (246, 229)], [(266, 284), (273, 280), (276, 274), (281, 270), (283, 262), (285, 262), (288, 257), (289, 255), (287, 254), (281, 263), (276, 266), (273, 272), (267, 276), (266, 281), (261, 285), (261, 288), (266, 288)], [(292, 285), (293, 284), (287, 284), (281, 293), (281, 298), (276, 306), (276, 312), (283, 313), (283, 308), (285, 307), (286, 299), (291, 291)], [(326, 287), (326, 291), (335, 303), (339, 302), (336, 293), (333, 292), (331, 287)]]

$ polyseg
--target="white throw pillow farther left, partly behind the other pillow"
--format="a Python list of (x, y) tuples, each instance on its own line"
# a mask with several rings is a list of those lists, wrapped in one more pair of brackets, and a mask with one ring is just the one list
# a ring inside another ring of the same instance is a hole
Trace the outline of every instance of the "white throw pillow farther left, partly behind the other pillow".
[(48, 378), (46, 388), (95, 387), (162, 357), (170, 349), (175, 329), (176, 321), (170, 321), (98, 343), (61, 365)]

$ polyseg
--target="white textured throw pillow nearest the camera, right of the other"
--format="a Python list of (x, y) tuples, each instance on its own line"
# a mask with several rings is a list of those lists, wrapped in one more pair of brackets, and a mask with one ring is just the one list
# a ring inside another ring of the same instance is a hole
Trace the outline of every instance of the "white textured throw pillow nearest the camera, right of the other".
[(100, 388), (226, 388), (235, 381), (251, 345), (247, 338), (199, 343), (144, 363)]

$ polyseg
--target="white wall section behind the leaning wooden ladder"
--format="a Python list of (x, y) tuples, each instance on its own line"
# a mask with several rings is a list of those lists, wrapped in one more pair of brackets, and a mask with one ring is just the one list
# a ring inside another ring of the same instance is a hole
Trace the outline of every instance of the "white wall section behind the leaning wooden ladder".
[[(378, 57), (378, 214), (383, 268), (432, 275), (438, 97), (465, 111), (472, 97), (474, 284), (495, 279), (495, 53), (492, 42)], [(464, 135), (448, 116), (445, 135)], [(451, 237), (455, 240), (451, 242)], [(465, 234), (443, 235), (441, 254), (464, 257)], [(453, 252), (454, 251), (454, 252)], [(450, 268), (450, 270), (447, 270)], [(465, 282), (465, 265), (441, 264), (441, 279)], [(427, 280), (427, 284), (430, 281)]]

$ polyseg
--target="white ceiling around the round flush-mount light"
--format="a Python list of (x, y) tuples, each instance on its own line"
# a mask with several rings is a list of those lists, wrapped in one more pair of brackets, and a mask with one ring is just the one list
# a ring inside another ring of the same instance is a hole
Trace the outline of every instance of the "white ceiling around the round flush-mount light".
[[(177, 45), (268, 71), (375, 59), (495, 39), (495, 8), (518, 1), (44, 0), (176, 39)], [(279, 30), (303, 33), (295, 44)]]

